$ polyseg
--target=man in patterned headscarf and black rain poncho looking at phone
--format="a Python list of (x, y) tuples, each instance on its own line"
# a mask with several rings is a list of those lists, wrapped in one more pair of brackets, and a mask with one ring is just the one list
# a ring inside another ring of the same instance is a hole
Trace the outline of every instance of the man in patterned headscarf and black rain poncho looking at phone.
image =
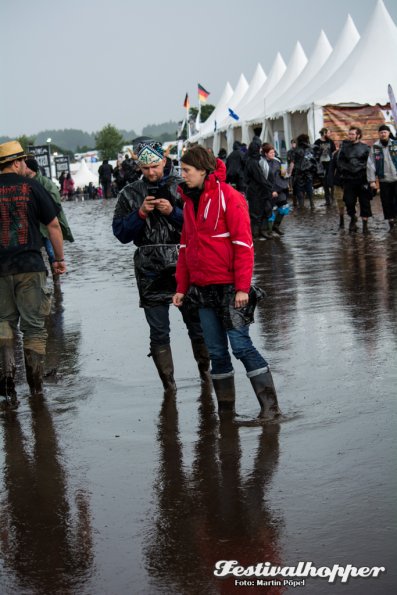
[[(135, 277), (140, 306), (150, 326), (150, 355), (166, 394), (176, 391), (170, 346), (169, 305), (176, 291), (183, 214), (177, 192), (182, 181), (164, 158), (160, 143), (146, 141), (138, 147), (143, 177), (120, 192), (113, 216), (113, 233), (123, 244), (134, 242)], [(180, 308), (203, 381), (208, 379), (209, 356), (198, 312)]]

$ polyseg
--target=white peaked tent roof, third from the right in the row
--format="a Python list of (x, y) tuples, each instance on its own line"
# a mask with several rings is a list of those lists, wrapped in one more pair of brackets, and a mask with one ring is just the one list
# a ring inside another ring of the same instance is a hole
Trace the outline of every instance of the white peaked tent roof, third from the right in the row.
[(291, 85), (281, 97), (277, 98), (276, 103), (272, 104), (272, 106), (275, 106), (274, 110), (272, 110), (272, 106), (269, 105), (268, 116), (276, 116), (277, 114), (287, 111), (293, 98), (297, 96), (299, 97), (302, 89), (317, 77), (331, 54), (332, 46), (324, 31), (321, 31), (309, 62), (306, 64), (293, 85)]

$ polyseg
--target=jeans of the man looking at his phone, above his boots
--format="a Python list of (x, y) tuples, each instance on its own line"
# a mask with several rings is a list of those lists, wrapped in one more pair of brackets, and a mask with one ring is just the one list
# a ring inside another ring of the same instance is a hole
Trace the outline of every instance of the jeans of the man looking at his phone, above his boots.
[[(170, 344), (169, 309), (169, 304), (144, 308), (146, 320), (150, 326), (150, 347), (161, 347), (162, 345)], [(197, 310), (187, 310), (183, 306), (179, 310), (181, 311), (191, 341), (202, 341), (203, 331)]]

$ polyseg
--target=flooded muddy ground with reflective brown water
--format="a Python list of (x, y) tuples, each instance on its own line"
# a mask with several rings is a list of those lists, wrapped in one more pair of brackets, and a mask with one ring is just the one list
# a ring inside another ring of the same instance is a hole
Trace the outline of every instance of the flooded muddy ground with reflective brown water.
[[(397, 234), (378, 201), (368, 236), (339, 231), (319, 199), (257, 241), (267, 299), (251, 334), (285, 414), (264, 427), (238, 362), (239, 416), (219, 423), (176, 309), (178, 394), (163, 402), (114, 201), (65, 204), (76, 243), (48, 321), (46, 401), (29, 403), (20, 371), (20, 409), (0, 419), (2, 595), (394, 593)], [(387, 572), (236, 586), (218, 560)]]

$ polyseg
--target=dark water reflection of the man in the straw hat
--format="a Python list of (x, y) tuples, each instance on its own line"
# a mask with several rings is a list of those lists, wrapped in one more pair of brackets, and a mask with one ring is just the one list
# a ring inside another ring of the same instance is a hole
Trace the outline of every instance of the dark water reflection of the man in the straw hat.
[(81, 491), (69, 503), (51, 415), (44, 400), (32, 400), (31, 408), (32, 446), (18, 416), (2, 420), (2, 587), (8, 588), (4, 577), (9, 577), (14, 592), (76, 593), (93, 561), (88, 500)]

